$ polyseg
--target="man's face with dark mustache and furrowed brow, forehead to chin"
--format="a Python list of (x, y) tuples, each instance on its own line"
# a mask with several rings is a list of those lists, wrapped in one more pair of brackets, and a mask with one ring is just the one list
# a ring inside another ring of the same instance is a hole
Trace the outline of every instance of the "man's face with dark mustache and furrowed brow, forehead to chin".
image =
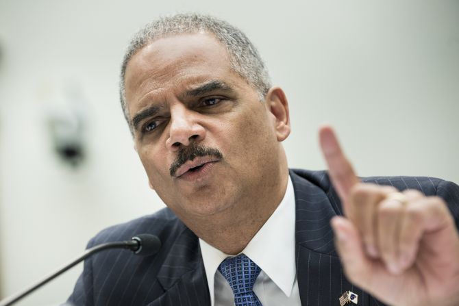
[(125, 88), (149, 183), (179, 218), (219, 214), (273, 188), (276, 118), (215, 38), (148, 44), (127, 65)]

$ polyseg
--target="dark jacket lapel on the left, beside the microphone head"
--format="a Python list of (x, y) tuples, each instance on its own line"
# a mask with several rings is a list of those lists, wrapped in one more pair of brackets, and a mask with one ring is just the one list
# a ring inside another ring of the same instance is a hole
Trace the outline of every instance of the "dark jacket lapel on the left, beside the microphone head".
[(210, 305), (206, 272), (197, 236), (188, 228), (179, 234), (158, 272), (164, 294), (149, 306)]

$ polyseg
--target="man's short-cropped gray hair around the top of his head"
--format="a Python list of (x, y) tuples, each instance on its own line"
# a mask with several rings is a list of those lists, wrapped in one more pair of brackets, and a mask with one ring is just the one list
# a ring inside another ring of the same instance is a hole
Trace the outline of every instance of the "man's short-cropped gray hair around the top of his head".
[[(226, 21), (221, 21), (212, 16), (201, 14), (176, 14), (174, 16), (163, 17), (145, 25), (132, 38), (123, 58), (120, 76), (120, 99), (123, 107), (124, 116), (129, 124), (129, 114), (127, 113), (125, 97), (125, 73), (129, 60), (147, 44), (165, 36), (175, 34), (195, 34), (207, 32), (213, 34), (229, 53), (229, 62), (247, 83), (258, 92), (260, 101), (271, 88), (271, 79), (268, 69), (264, 64), (260, 54), (249, 38), (240, 29), (230, 25)], [(132, 127), (129, 124), (129, 129)]]

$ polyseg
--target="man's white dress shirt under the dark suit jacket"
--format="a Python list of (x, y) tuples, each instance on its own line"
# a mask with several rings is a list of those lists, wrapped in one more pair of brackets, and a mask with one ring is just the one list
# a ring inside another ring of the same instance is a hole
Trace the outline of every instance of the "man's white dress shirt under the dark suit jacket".
[[(211, 305), (234, 306), (232, 289), (217, 270), (221, 262), (231, 256), (204, 240), (199, 239), (199, 244)], [(263, 306), (301, 305), (295, 265), (295, 194), (290, 177), (284, 199), (241, 253), (262, 269), (253, 292)]]

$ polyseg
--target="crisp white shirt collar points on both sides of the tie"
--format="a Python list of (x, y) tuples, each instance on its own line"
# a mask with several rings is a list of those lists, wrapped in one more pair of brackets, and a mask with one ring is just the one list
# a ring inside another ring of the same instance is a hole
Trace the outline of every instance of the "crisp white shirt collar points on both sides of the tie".
[[(227, 255), (199, 238), (206, 269), (211, 305), (214, 305), (214, 276)], [(295, 194), (288, 177), (284, 198), (260, 231), (241, 252), (255, 262), (286, 296), (295, 283)]]

